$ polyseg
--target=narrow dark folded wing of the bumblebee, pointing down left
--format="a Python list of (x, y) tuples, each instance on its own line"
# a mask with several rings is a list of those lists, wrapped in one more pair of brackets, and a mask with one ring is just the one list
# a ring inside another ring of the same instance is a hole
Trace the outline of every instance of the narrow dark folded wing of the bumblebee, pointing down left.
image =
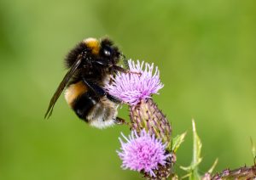
[(72, 67), (70, 68), (70, 70), (68, 70), (67, 74), (64, 76), (63, 80), (61, 81), (59, 87), (57, 88), (57, 90), (55, 91), (55, 94), (53, 95), (53, 97), (50, 99), (49, 102), (49, 107), (48, 110), (46, 111), (44, 118), (49, 118), (49, 116), (52, 113), (52, 110), (55, 106), (55, 103), (57, 101), (57, 99), (60, 97), (63, 89), (67, 86), (67, 82), (69, 82), (70, 78), (73, 76), (73, 74), (75, 73), (75, 71), (78, 69), (79, 65), (81, 64), (81, 57), (79, 57), (74, 64), (72, 65)]

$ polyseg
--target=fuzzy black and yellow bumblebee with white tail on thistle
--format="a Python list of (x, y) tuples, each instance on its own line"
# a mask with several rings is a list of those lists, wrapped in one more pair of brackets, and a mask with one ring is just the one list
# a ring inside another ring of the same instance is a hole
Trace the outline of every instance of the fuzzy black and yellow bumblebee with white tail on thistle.
[(127, 72), (117, 65), (122, 58), (124, 55), (108, 38), (87, 38), (79, 42), (67, 54), (65, 64), (69, 70), (51, 98), (44, 118), (52, 114), (57, 99), (66, 88), (67, 104), (81, 120), (98, 128), (124, 123), (117, 116), (121, 101), (103, 89), (111, 83), (111, 75), (117, 71)]

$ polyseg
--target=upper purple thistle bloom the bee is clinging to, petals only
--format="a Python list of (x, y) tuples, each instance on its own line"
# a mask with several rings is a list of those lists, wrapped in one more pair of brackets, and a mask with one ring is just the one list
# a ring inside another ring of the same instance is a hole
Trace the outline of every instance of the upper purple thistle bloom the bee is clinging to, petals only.
[[(128, 61), (130, 73), (117, 73), (113, 83), (107, 85), (108, 93), (123, 100), (127, 104), (135, 105), (141, 100), (151, 98), (153, 93), (164, 87), (160, 82), (160, 71), (154, 64)], [(144, 66), (145, 65), (145, 66)], [(140, 74), (141, 73), (141, 74)]]

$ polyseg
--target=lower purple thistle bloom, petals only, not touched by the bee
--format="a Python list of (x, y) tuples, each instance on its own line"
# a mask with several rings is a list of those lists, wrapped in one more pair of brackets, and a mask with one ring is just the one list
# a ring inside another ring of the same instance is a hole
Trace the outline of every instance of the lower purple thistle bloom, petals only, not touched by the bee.
[(146, 172), (151, 177), (156, 177), (154, 170), (157, 170), (159, 165), (165, 166), (167, 158), (171, 156), (166, 154), (166, 144), (144, 129), (139, 135), (132, 131), (128, 138), (123, 133), (122, 136), (126, 143), (119, 138), (121, 152), (117, 151), (123, 161), (122, 168)]

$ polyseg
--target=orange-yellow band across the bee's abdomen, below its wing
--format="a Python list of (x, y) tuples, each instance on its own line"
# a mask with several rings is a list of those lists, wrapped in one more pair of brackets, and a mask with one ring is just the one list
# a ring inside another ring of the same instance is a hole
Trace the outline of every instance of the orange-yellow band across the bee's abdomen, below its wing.
[(87, 87), (83, 82), (77, 82), (67, 87), (65, 91), (65, 99), (69, 106), (72, 106), (73, 101), (79, 97), (79, 95), (86, 93)]

